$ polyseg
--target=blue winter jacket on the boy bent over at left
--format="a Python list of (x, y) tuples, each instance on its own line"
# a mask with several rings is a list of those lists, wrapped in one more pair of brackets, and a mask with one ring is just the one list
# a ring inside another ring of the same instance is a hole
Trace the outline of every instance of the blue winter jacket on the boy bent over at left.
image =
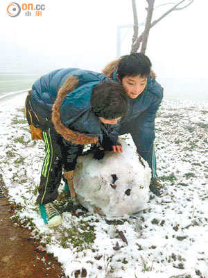
[[(35, 81), (32, 88), (31, 102), (35, 113), (39, 117), (46, 118), (51, 122), (52, 106), (58, 98), (58, 91), (62, 87), (69, 86), (71, 88), (71, 81), (67, 81), (69, 76), (76, 76), (78, 84), (67, 92), (60, 106), (54, 114), (55, 117), (60, 117), (60, 120), (53, 122), (57, 131), (67, 140), (71, 140), (74, 144), (86, 143), (86, 140), (77, 140), (67, 137), (66, 133), (69, 131), (77, 133), (78, 135), (89, 136), (90, 138), (98, 138), (102, 143), (103, 136), (110, 138), (112, 145), (116, 145), (118, 137), (119, 125), (103, 124), (96, 115), (92, 112), (90, 99), (92, 89), (98, 83), (109, 80), (104, 74), (90, 72), (88, 70), (79, 70), (76, 68), (54, 70), (49, 74), (42, 76)], [(68, 82), (68, 83), (67, 83)], [(64, 85), (64, 86), (63, 86)], [(59, 92), (60, 93), (60, 92)], [(54, 106), (53, 106), (54, 107)], [(63, 126), (64, 124), (64, 126)], [(67, 130), (69, 129), (69, 130)], [(67, 130), (67, 131), (66, 131)]]

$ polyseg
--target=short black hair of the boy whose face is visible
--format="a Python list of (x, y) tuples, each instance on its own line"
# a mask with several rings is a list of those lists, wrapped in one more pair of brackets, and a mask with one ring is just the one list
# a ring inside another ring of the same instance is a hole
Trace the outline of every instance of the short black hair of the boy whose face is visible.
[(150, 75), (152, 63), (150, 59), (141, 53), (132, 53), (121, 57), (118, 65), (119, 79), (124, 76), (140, 75), (141, 77), (148, 77)]

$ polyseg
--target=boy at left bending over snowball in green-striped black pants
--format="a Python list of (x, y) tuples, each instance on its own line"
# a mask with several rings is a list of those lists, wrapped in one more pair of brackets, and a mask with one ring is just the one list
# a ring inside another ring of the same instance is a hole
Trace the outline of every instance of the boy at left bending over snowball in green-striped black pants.
[(52, 204), (58, 197), (62, 169), (75, 197), (73, 174), (83, 145), (99, 143), (122, 152), (118, 122), (127, 113), (123, 86), (104, 74), (62, 69), (35, 81), (26, 98), (26, 117), (32, 138), (43, 139), (46, 145), (37, 203), (48, 227), (62, 222)]

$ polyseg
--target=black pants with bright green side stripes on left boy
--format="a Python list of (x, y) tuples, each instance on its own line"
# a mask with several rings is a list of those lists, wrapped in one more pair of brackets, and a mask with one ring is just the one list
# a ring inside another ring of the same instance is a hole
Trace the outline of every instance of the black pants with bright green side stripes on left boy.
[(58, 197), (58, 187), (62, 179), (62, 169), (74, 170), (78, 155), (83, 152), (83, 145), (72, 145), (64, 140), (51, 126), (42, 130), (46, 156), (40, 177), (37, 202), (47, 204)]

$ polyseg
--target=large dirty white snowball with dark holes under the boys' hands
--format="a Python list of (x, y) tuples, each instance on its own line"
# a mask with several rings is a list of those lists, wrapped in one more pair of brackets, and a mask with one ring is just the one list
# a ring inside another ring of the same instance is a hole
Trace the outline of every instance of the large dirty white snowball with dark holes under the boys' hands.
[(100, 161), (93, 154), (78, 158), (73, 185), (90, 212), (123, 216), (146, 208), (150, 167), (132, 147), (122, 146), (123, 153), (108, 152)]

